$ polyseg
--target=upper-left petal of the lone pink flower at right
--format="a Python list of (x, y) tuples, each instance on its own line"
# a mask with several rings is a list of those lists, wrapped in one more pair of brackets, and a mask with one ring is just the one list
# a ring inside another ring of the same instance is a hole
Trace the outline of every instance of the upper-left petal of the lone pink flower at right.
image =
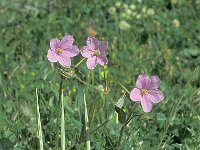
[(149, 76), (141, 74), (136, 81), (136, 87), (139, 89), (149, 89), (151, 80)]

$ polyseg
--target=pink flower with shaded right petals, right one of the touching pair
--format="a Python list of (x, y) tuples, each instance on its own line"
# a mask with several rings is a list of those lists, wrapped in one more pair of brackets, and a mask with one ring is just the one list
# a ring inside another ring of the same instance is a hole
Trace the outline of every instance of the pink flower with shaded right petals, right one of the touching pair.
[(88, 69), (94, 69), (98, 64), (104, 66), (108, 63), (106, 51), (108, 49), (108, 42), (99, 41), (95, 37), (88, 37), (87, 46), (82, 48), (81, 54), (87, 58)]

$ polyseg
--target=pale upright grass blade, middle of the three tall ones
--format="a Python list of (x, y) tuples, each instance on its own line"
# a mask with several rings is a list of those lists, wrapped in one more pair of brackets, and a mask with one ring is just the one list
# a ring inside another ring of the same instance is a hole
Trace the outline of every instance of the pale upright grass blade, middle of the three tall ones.
[(61, 93), (61, 147), (62, 150), (65, 150), (65, 112), (63, 104), (63, 89)]

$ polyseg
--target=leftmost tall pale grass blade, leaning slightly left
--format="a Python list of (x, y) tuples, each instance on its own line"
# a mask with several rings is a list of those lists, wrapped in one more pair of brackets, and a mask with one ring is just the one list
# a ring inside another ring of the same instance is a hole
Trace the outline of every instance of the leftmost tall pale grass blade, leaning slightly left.
[(40, 108), (39, 108), (39, 102), (38, 102), (38, 91), (37, 88), (35, 90), (36, 93), (36, 99), (37, 99), (37, 116), (38, 116), (38, 138), (40, 142), (40, 150), (43, 150), (43, 135), (42, 135), (42, 126), (41, 126), (41, 120), (40, 120)]

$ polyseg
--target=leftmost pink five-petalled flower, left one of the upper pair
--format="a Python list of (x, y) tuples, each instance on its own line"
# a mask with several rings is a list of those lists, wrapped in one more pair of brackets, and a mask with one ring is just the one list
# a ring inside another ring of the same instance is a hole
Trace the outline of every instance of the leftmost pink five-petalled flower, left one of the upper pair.
[(50, 62), (59, 62), (62, 66), (71, 66), (71, 57), (78, 55), (79, 49), (72, 45), (74, 38), (72, 35), (66, 35), (60, 41), (57, 38), (51, 39), (50, 49), (48, 50), (48, 60)]

